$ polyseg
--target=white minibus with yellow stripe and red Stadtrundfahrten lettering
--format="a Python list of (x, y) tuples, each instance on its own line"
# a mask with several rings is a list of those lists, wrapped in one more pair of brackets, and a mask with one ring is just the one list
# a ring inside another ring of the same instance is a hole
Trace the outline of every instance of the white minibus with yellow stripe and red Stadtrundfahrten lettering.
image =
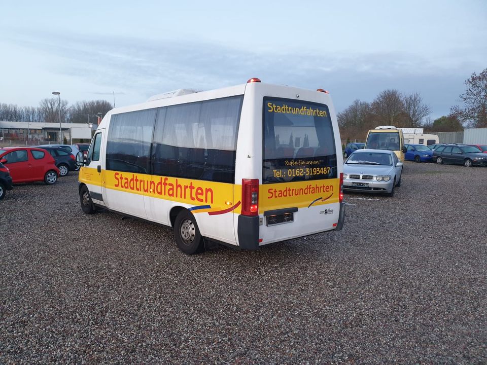
[(79, 194), (85, 213), (102, 207), (172, 227), (188, 254), (207, 242), (256, 249), (340, 230), (342, 172), (328, 92), (253, 78), (112, 109)]

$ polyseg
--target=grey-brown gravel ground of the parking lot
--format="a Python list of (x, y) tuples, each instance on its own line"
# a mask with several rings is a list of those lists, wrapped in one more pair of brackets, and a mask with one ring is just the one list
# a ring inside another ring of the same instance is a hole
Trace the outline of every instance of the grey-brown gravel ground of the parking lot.
[(186, 256), (84, 215), (77, 176), (0, 202), (0, 363), (487, 363), (487, 168), (405, 164), (343, 231)]

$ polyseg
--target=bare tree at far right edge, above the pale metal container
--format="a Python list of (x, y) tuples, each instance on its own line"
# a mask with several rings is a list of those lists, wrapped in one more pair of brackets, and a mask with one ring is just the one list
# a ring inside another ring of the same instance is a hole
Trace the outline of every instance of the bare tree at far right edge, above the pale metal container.
[(460, 94), (464, 106), (451, 107), (451, 114), (474, 128), (487, 127), (487, 68), (479, 75), (473, 72), (465, 85), (467, 90)]

